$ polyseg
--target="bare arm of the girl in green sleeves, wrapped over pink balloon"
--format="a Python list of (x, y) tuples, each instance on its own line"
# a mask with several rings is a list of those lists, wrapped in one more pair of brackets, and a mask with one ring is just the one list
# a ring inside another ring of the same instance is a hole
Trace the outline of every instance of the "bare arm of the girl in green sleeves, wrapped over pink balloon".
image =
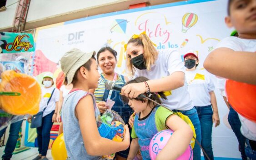
[(166, 120), (166, 126), (174, 133), (163, 150), (157, 155), (156, 160), (176, 160), (187, 149), (193, 136), (190, 126), (179, 116), (169, 116)]

